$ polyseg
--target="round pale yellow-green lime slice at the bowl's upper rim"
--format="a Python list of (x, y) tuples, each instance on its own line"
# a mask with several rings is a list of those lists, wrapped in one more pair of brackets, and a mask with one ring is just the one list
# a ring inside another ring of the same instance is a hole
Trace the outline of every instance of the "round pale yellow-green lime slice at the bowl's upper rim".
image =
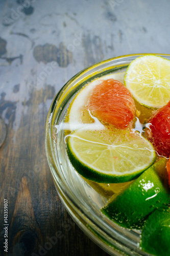
[(170, 98), (170, 61), (152, 54), (138, 57), (130, 63), (124, 82), (140, 104), (160, 108)]

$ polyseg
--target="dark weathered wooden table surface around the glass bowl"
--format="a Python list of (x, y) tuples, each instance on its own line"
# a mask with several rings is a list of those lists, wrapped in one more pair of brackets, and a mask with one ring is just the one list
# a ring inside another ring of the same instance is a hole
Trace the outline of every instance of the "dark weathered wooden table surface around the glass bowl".
[(59, 199), (45, 156), (45, 119), (56, 93), (85, 67), (130, 53), (169, 54), (169, 9), (168, 0), (0, 0), (2, 256), (108, 255)]

